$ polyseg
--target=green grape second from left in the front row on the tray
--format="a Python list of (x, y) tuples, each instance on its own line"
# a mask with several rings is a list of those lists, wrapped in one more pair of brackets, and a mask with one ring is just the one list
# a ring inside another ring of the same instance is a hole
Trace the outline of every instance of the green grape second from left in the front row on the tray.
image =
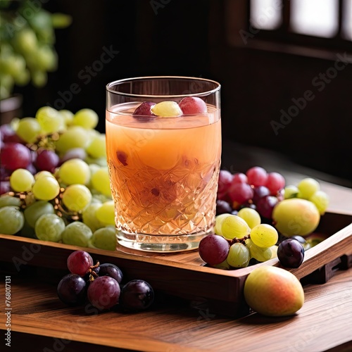
[(56, 214), (43, 214), (35, 222), (34, 230), (38, 239), (58, 242), (62, 239), (65, 222)]

